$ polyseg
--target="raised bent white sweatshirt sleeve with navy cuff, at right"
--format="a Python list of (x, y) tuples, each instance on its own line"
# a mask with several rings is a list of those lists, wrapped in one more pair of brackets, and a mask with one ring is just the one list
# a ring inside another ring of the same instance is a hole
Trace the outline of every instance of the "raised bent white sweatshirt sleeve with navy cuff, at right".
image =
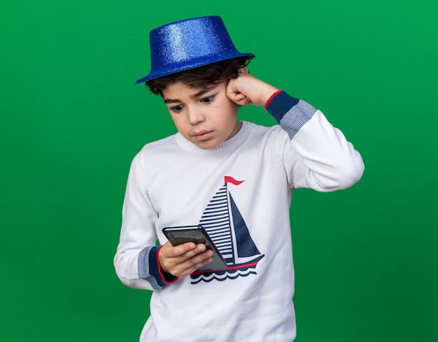
[(360, 180), (362, 157), (321, 111), (283, 90), (273, 94), (264, 108), (288, 134), (283, 154), (291, 187), (330, 192)]

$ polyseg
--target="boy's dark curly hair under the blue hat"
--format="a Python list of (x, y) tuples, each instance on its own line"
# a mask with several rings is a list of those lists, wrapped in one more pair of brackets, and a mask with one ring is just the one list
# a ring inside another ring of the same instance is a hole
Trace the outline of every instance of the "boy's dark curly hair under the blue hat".
[(162, 90), (168, 85), (181, 82), (192, 88), (202, 88), (215, 85), (225, 80), (231, 80), (239, 76), (239, 69), (247, 66), (251, 58), (238, 57), (227, 59), (212, 64), (206, 64), (194, 69), (171, 73), (167, 76), (155, 78), (146, 82), (146, 87), (155, 95), (162, 97)]

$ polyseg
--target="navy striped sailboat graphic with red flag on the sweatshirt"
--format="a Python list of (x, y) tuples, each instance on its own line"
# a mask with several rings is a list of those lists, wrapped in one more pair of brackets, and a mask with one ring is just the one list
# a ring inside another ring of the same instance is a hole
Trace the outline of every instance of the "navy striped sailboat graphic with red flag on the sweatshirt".
[(223, 281), (227, 278), (236, 279), (239, 276), (246, 277), (250, 274), (257, 274), (255, 267), (264, 255), (257, 249), (229, 191), (229, 184), (238, 186), (241, 183), (243, 180), (235, 180), (230, 176), (225, 176), (224, 185), (214, 194), (199, 221), (199, 225), (206, 229), (227, 262), (227, 268), (195, 271), (190, 275), (192, 284), (201, 281), (209, 283), (211, 280)]

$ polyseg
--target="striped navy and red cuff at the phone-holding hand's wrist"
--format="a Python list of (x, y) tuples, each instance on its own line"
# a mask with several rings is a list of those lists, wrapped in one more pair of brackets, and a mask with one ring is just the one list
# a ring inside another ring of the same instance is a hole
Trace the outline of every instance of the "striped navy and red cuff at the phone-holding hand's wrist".
[(139, 278), (150, 283), (154, 290), (159, 290), (165, 285), (175, 283), (178, 277), (164, 276), (158, 259), (161, 246), (146, 247), (139, 253), (138, 269)]

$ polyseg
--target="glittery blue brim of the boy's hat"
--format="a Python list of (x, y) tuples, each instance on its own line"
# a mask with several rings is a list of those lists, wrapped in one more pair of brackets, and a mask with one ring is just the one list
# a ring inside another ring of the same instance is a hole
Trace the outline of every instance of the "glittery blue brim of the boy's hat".
[(190, 59), (190, 61), (181, 62), (181, 64), (178, 64), (177, 66), (172, 66), (171, 68), (167, 68), (167, 69), (164, 68), (164, 69), (160, 69), (159, 71), (151, 71), (145, 77), (136, 80), (135, 84), (138, 85), (139, 83), (148, 82), (148, 80), (154, 80), (155, 78), (171, 75), (172, 73), (179, 73), (181, 71), (195, 69), (198, 66), (213, 64), (216, 62), (221, 62), (227, 59), (233, 59), (238, 57), (250, 57), (252, 59), (255, 57), (255, 55), (252, 53), (233, 53), (232, 55), (216, 54), (216, 55), (212, 55), (211, 57), (204, 56), (200, 58), (198, 61), (196, 59)]

